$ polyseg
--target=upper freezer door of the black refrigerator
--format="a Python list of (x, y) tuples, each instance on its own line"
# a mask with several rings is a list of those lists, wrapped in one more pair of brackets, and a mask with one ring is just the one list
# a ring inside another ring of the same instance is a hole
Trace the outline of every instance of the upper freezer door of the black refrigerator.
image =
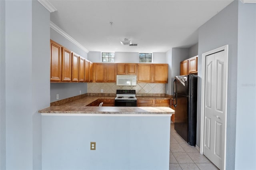
[(188, 96), (189, 95), (189, 77), (188, 75), (180, 75), (176, 76), (176, 89), (175, 92), (181, 95)]

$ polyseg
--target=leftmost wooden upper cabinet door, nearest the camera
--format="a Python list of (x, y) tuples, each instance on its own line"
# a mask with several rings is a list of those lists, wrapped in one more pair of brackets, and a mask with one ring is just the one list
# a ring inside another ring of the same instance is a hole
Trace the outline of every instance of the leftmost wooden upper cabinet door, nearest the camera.
[(50, 51), (50, 81), (61, 81), (61, 46), (58, 43), (50, 41)]

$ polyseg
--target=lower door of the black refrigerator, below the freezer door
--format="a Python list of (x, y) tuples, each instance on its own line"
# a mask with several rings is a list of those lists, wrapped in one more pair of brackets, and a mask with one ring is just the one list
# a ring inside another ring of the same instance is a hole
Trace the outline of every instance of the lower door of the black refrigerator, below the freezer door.
[(177, 94), (174, 129), (188, 142), (188, 96)]

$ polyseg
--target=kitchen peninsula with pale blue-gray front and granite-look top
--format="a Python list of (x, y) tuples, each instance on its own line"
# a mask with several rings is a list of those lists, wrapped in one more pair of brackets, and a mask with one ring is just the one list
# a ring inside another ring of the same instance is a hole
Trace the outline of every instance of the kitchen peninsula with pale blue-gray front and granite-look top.
[[(172, 109), (70, 103), (38, 111), (42, 169), (169, 169)], [(96, 150), (90, 150), (90, 142), (96, 142)]]

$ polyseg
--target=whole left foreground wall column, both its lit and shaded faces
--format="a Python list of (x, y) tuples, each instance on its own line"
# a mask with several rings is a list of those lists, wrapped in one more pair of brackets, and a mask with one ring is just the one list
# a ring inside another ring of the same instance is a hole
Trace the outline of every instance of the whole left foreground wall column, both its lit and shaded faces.
[(50, 13), (38, 1), (5, 3), (6, 169), (41, 169), (37, 111), (50, 104)]

